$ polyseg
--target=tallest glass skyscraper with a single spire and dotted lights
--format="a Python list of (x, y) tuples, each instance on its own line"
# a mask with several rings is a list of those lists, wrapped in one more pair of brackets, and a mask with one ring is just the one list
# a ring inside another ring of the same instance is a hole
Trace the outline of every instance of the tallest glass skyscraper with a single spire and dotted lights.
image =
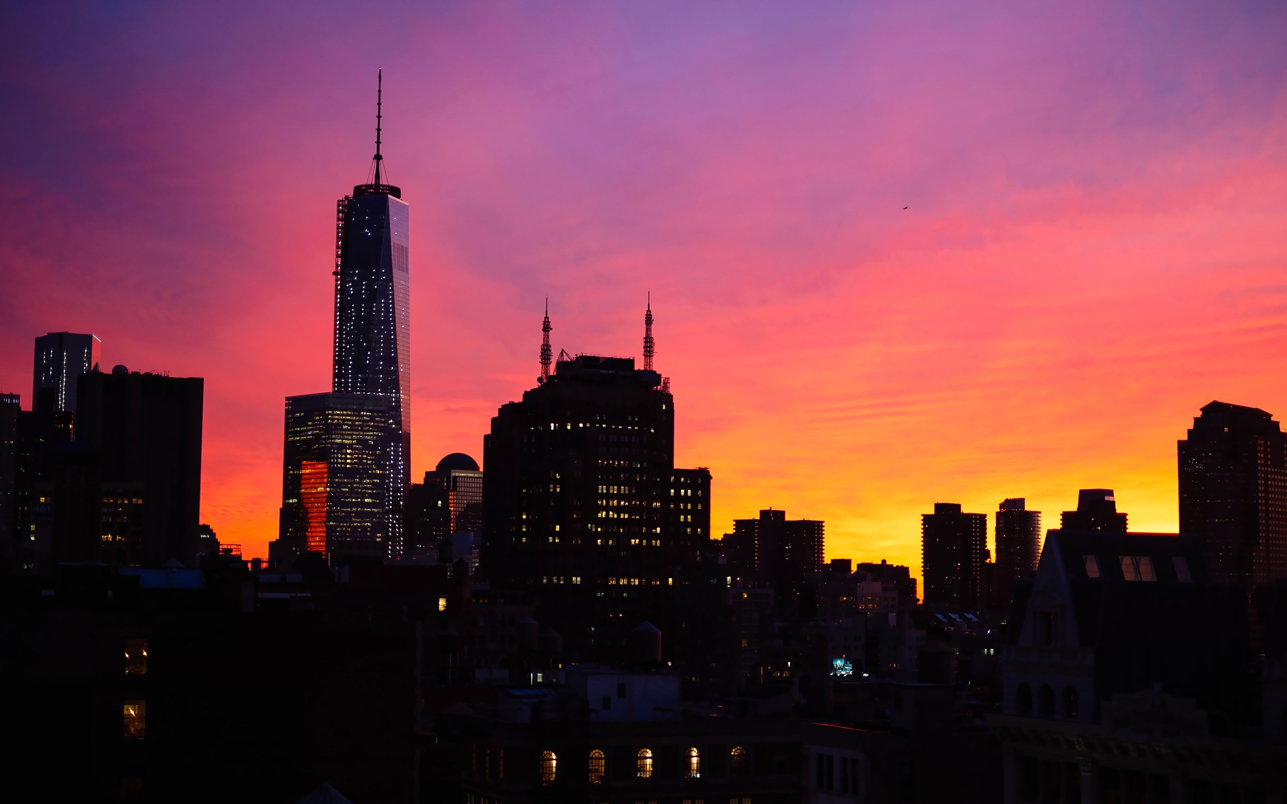
[[(411, 482), (408, 206), (402, 189), (382, 180), (380, 93), (372, 180), (354, 187), (353, 196), (336, 205), (332, 390), (385, 396), (398, 413), (396, 454), (389, 482), (400, 511)], [(389, 538), (398, 554), (402, 521), (391, 521), (395, 526)]]

